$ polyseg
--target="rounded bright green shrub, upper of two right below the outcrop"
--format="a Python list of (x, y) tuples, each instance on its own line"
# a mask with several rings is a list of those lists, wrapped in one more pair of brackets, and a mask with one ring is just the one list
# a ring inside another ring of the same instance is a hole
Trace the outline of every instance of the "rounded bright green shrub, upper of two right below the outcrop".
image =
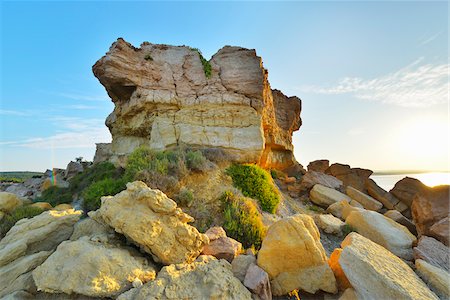
[(231, 165), (226, 173), (233, 179), (233, 185), (244, 196), (259, 200), (264, 211), (275, 213), (280, 195), (273, 185), (269, 173), (257, 165)]

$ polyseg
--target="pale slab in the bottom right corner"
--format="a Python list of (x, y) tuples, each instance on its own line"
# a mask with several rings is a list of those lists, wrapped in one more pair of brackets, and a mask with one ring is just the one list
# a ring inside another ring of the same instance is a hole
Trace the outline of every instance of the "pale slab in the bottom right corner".
[(431, 287), (441, 299), (450, 298), (450, 274), (424, 260), (416, 260), (416, 270), (419, 276)]

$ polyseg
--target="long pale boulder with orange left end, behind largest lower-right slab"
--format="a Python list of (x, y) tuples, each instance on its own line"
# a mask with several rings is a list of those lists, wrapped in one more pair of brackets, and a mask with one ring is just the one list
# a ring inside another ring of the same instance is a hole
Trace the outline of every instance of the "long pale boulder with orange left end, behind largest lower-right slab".
[(413, 259), (416, 237), (397, 222), (374, 211), (352, 211), (345, 222), (362, 236), (385, 247), (405, 260)]

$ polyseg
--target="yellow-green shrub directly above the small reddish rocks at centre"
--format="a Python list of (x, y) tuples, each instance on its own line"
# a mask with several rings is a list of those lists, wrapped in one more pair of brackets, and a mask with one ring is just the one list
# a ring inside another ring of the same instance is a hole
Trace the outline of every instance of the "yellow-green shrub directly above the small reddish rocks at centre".
[(244, 247), (254, 246), (259, 249), (266, 234), (256, 204), (251, 199), (237, 197), (225, 192), (220, 201), (223, 205), (223, 228), (227, 235), (241, 242)]

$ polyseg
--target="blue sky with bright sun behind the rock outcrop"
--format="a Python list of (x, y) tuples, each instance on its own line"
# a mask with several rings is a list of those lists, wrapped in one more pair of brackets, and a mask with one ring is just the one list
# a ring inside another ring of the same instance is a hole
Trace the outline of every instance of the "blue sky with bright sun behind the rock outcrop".
[(302, 99), (295, 156), (449, 169), (448, 2), (1, 2), (0, 170), (91, 160), (113, 105), (91, 66), (118, 37), (254, 48)]

